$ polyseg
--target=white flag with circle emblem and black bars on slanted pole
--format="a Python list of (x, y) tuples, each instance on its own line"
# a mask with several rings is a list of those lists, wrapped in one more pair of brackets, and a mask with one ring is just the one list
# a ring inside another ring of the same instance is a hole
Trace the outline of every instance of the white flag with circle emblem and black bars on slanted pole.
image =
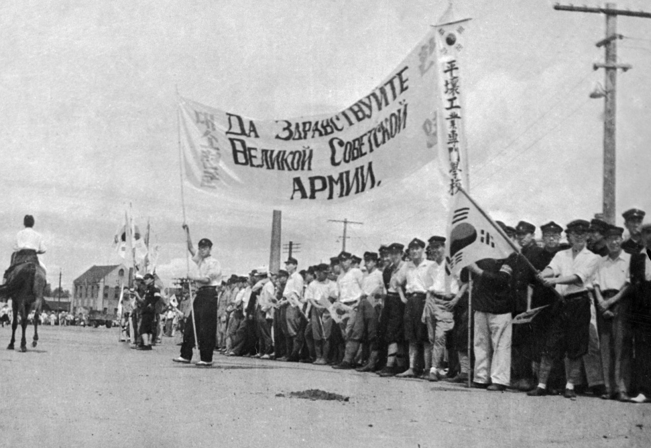
[(504, 232), (463, 188), (454, 195), (448, 241), (447, 263), (455, 276), (480, 259), (503, 259), (516, 252)]

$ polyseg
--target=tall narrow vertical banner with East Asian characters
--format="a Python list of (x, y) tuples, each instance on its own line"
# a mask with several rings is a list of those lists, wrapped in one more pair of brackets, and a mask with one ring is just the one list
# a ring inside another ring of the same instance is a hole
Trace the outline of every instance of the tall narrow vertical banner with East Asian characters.
[(456, 194), (458, 187), (469, 189), (468, 155), (465, 141), (464, 34), (470, 19), (457, 20), (452, 3), (436, 25), (437, 75), (441, 111), (439, 122), (439, 163), (449, 178), (448, 192)]

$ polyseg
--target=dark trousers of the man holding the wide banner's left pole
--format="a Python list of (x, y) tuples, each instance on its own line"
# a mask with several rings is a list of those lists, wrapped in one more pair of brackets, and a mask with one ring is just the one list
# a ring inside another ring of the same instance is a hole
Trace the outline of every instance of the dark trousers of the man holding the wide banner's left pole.
[[(217, 296), (215, 288), (200, 288), (195, 297), (193, 313), (197, 324), (199, 339), (199, 354), (204, 362), (212, 362), (212, 352), (215, 349), (217, 334)], [(181, 357), (192, 359), (192, 349), (195, 346), (195, 334), (192, 325), (192, 315), (187, 318), (183, 330)]]

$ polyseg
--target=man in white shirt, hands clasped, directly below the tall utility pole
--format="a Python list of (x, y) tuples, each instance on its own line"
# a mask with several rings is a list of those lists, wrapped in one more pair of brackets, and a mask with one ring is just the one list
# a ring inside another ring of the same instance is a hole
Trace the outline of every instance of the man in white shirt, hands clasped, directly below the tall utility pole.
[(608, 255), (600, 259), (594, 279), (598, 304), (599, 342), (605, 393), (603, 399), (629, 401), (632, 340), (628, 328), (630, 300), (630, 254), (622, 250), (624, 229), (610, 226), (604, 231)]

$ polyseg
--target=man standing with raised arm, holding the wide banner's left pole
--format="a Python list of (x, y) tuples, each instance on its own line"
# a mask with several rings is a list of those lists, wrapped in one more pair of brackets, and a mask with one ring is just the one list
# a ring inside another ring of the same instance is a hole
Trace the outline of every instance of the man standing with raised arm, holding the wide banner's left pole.
[[(192, 261), (197, 263), (199, 274), (188, 276), (191, 282), (199, 285), (197, 295), (193, 302), (194, 323), (197, 325), (197, 345), (201, 360), (199, 367), (212, 365), (212, 353), (215, 349), (217, 337), (217, 286), (221, 284), (221, 267), (219, 261), (210, 255), (212, 241), (207, 238), (199, 240), (198, 250), (192, 246), (190, 230), (183, 224), (187, 237), (187, 250), (192, 254)], [(189, 363), (192, 360), (192, 349), (195, 346), (193, 320), (188, 319), (183, 332), (181, 356), (174, 358), (174, 362)]]

